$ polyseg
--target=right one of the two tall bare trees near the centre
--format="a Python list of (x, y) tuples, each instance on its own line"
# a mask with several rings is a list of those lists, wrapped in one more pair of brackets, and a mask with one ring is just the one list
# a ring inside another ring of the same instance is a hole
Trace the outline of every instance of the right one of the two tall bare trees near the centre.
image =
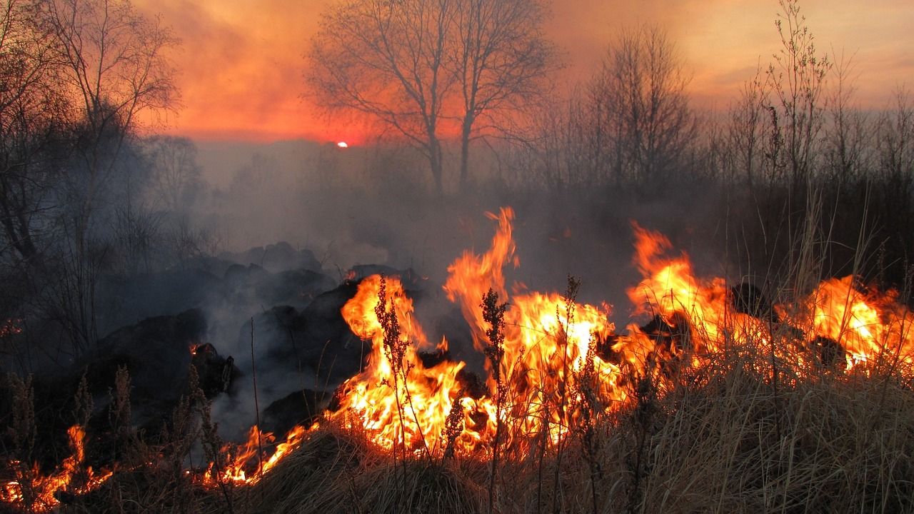
[[(463, 189), (472, 139), (505, 134), (506, 120), (539, 96), (557, 60), (543, 36), (544, 7), (537, 0), (459, 0), (458, 5), (452, 62), (462, 98)], [(476, 126), (481, 121), (484, 125)]]

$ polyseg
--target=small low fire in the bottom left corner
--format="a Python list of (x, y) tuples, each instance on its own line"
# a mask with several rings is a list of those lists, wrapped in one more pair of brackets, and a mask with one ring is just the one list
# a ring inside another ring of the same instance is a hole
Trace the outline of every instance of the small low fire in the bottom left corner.
[[(6, 482), (3, 489), (0, 489), (0, 502), (33, 512), (49, 512), (60, 505), (59, 493), (86, 494), (112, 477), (111, 471), (96, 475), (90, 466), (82, 466), (85, 460), (83, 439), (86, 433), (80, 425), (69, 427), (67, 434), (72, 455), (64, 459), (58, 469), (48, 476), (41, 474), (37, 464), (31, 469), (19, 469), (16, 480)], [(21, 465), (11, 464), (16, 467)]]

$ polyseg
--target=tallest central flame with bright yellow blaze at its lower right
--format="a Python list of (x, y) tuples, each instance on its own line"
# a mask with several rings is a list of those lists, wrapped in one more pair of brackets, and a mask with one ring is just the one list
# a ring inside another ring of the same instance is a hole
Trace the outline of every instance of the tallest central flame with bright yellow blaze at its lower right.
[[(574, 407), (580, 402), (583, 384), (582, 373), (590, 369), (599, 377), (597, 389), (601, 403), (609, 408), (625, 397), (618, 387), (620, 369), (597, 355), (596, 345), (605, 341), (614, 330), (607, 319), (609, 307), (600, 309), (593, 305), (579, 305), (559, 294), (530, 293), (508, 298), (502, 269), (515, 257), (511, 221), (514, 211), (501, 209), (498, 215), (488, 217), (498, 222), (492, 247), (483, 255), (464, 252), (448, 268), (450, 276), (444, 290), (452, 302), (458, 302), (467, 323), (473, 331), (473, 345), (483, 351), (488, 343), (486, 330), (490, 324), (484, 320), (480, 301), (492, 290), (501, 302), (508, 302), (505, 311), (504, 354), (500, 359), (498, 376), (504, 377), (503, 412), (499, 416), (492, 404), (498, 391), (494, 364), (486, 361), (490, 391), (484, 399), (487, 414), (486, 433), (475, 437), (491, 440), (499, 419), (517, 420), (510, 423), (506, 443), (524, 443), (531, 436), (547, 429), (550, 439), (557, 442), (561, 434), (572, 426), (579, 412)], [(556, 396), (569, 397), (559, 402), (558, 409), (550, 408)], [(563, 404), (564, 403), (564, 404)]]

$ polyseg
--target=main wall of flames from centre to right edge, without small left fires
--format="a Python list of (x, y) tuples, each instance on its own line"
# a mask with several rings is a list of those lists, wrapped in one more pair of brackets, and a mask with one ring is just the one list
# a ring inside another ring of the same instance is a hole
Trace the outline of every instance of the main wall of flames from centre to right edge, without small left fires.
[[(824, 345), (834, 341), (845, 352), (845, 369), (887, 348), (909, 363), (914, 353), (914, 318), (891, 293), (866, 297), (851, 277), (828, 280), (792, 308), (771, 305), (771, 316), (762, 319), (734, 307), (735, 293), (725, 279), (697, 277), (688, 255), (671, 255), (669, 240), (636, 224), (634, 264), (643, 279), (628, 295), (634, 315), (651, 321), (632, 323), (617, 335), (608, 305), (578, 304), (570, 289), (509, 298), (503, 269), (518, 265), (514, 212), (505, 208), (489, 218), (497, 223), (491, 248), (481, 255), (464, 252), (448, 268), (444, 285), (461, 306), (474, 347), (487, 355), (494, 355), (487, 335), (492, 326), (480, 301), (492, 291), (506, 302), (497, 372), (492, 359), (486, 362), (487, 393), (477, 399), (462, 393), (456, 380), (462, 362), (422, 365), (418, 351), (430, 345), (412, 316), (412, 301), (396, 277), (375, 275), (343, 309), (353, 331), (372, 341), (372, 354), (367, 369), (345, 383), (342, 408), (331, 417), (364, 429), (384, 448), (402, 444), (412, 452), (441, 450), (442, 434), (459, 427), (457, 449), (473, 454), (493, 444), (499, 424), (505, 425), (505, 444), (521, 447), (543, 434), (557, 444), (580, 423), (626, 405), (632, 377), (709, 364), (728, 348), (821, 364), (828, 353)], [(399, 321), (393, 344), (402, 348), (399, 354), (388, 349), (389, 330), (380, 321), (389, 313)], [(767, 365), (760, 359), (760, 368)], [(662, 373), (656, 380), (668, 379)], [(462, 411), (461, 423), (449, 426), (455, 410)]]

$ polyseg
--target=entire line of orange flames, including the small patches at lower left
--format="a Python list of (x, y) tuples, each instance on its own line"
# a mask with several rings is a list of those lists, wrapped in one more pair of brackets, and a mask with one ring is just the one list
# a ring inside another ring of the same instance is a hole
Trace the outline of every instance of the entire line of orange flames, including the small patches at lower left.
[[(758, 297), (739, 298), (725, 279), (696, 276), (688, 255), (636, 224), (633, 263), (642, 279), (627, 293), (633, 315), (646, 323), (616, 334), (610, 305), (579, 304), (573, 279), (565, 294), (509, 295), (504, 268), (519, 265), (514, 212), (489, 218), (496, 223), (491, 248), (464, 252), (443, 286), (460, 305), (474, 348), (488, 358), (484, 386), (473, 384), (465, 363), (447, 359), (446, 339), (428, 339), (399, 277), (371, 275), (341, 311), (356, 336), (371, 341), (371, 353), (365, 369), (337, 391), (328, 422), (403, 455), (484, 456), (499, 444), (522, 451), (533, 441), (560, 444), (601, 414), (630, 406), (638, 380), (671, 380), (676, 369), (713, 364), (730, 350), (748, 348), (760, 356), (759, 369), (773, 368), (774, 359), (839, 373), (884, 359), (914, 364), (914, 315), (898, 294), (867, 290), (848, 276), (825, 280), (788, 304), (753, 305)], [(247, 443), (222, 448), (198, 483), (256, 483), (315, 427), (296, 426), (275, 444), (254, 426)], [(71, 427), (73, 455), (58, 471), (42, 477), (37, 466), (23, 470), (0, 488), (0, 501), (47, 511), (60, 491), (99, 487), (111, 473), (83, 469), (83, 437)]]

